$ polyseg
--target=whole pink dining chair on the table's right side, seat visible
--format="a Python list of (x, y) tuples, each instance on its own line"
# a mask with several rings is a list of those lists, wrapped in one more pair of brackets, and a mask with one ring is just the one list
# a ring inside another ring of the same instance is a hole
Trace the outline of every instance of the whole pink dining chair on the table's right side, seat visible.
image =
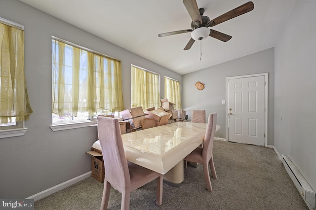
[(203, 164), (204, 178), (208, 191), (212, 191), (211, 179), (208, 172), (208, 164), (211, 168), (212, 177), (217, 178), (213, 160), (213, 141), (216, 131), (216, 121), (217, 113), (211, 113), (208, 116), (203, 147), (197, 147), (195, 150), (193, 150), (193, 152), (184, 158), (185, 161)]

